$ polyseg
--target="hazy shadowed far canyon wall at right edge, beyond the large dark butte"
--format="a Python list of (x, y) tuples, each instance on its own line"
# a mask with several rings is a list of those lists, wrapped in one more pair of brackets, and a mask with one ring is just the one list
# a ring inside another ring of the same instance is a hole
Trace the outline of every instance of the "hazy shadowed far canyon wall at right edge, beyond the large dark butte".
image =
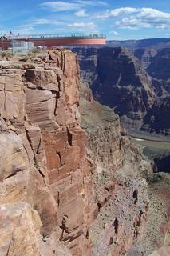
[(158, 54), (152, 58), (152, 62), (148, 66), (148, 74), (152, 75), (152, 86), (156, 92), (157, 98), (152, 109), (144, 118), (143, 130), (157, 131), (160, 134), (170, 134), (170, 84), (169, 84), (169, 64), (170, 50), (160, 50)]

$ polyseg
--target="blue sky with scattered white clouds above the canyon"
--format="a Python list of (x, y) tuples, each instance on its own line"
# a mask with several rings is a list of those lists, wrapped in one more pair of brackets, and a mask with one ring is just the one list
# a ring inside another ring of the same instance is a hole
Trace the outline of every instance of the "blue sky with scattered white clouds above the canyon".
[(170, 0), (6, 0), (0, 32), (104, 33), (109, 39), (170, 38)]

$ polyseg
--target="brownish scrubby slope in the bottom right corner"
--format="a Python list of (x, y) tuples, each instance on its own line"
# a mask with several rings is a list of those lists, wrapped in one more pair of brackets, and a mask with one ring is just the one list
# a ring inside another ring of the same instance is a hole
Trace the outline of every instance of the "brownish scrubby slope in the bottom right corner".
[(127, 256), (168, 256), (170, 175), (154, 173), (148, 176), (147, 181), (150, 204), (144, 235), (132, 246)]

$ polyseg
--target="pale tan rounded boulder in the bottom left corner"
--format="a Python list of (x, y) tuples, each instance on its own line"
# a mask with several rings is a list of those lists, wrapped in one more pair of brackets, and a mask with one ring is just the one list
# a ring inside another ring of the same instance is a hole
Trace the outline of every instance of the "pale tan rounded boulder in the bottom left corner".
[(40, 227), (38, 212), (25, 202), (4, 204), (0, 208), (1, 255), (39, 255)]

